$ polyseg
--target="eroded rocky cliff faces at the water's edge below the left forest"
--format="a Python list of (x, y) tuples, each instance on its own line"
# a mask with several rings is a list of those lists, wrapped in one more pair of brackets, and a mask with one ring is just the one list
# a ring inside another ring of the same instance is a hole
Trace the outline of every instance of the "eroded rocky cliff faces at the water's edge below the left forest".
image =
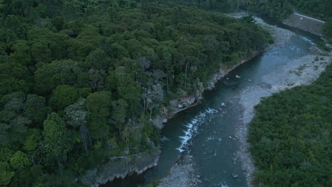
[[(201, 87), (196, 94), (192, 96), (184, 96), (170, 101), (169, 107), (162, 108), (160, 115), (158, 115), (153, 123), (159, 128), (163, 127), (163, 123), (167, 123), (167, 120), (172, 118), (176, 113), (184, 111), (187, 108), (197, 105), (203, 100), (202, 94), (206, 89), (214, 89), (214, 84), (223, 77), (225, 77), (228, 72), (231, 72), (234, 68), (238, 67), (240, 64), (247, 62), (252, 59), (260, 52), (254, 52), (250, 57), (246, 57), (237, 64), (231, 67), (221, 67), (216, 74), (209, 80), (208, 86), (206, 88)], [(107, 183), (108, 181), (113, 181), (116, 178), (124, 178), (128, 174), (142, 174), (144, 171), (157, 166), (157, 162), (160, 157), (160, 149), (155, 147), (153, 153), (140, 152), (139, 154), (131, 155), (130, 157), (116, 157), (111, 159), (111, 161), (101, 169), (93, 169), (87, 171), (87, 174), (82, 179), (85, 185), (90, 185), (92, 187), (100, 186), (101, 184)]]

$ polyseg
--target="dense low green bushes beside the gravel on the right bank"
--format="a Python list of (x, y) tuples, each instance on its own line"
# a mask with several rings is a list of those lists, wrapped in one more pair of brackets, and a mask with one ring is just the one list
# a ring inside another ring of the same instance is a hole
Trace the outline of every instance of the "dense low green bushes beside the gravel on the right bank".
[(265, 98), (248, 142), (261, 186), (332, 185), (332, 65), (314, 84)]

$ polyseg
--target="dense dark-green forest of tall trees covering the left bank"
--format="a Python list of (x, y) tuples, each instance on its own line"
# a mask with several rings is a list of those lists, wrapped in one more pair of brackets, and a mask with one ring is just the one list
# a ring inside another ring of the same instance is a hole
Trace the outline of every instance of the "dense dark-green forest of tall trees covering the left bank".
[(272, 38), (175, 2), (0, 0), (0, 186), (83, 186), (149, 152), (151, 119)]

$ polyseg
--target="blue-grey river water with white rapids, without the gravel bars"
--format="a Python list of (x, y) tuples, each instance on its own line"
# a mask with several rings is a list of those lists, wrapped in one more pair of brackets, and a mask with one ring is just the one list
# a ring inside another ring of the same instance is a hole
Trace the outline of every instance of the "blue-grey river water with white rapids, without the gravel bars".
[[(241, 118), (237, 96), (248, 86), (260, 84), (263, 75), (283, 63), (309, 54), (312, 41), (317, 37), (282, 25), (269, 18), (266, 23), (292, 30), (297, 35), (289, 45), (272, 47), (261, 55), (240, 65), (224, 79), (218, 81), (215, 89), (204, 92), (204, 101), (198, 106), (178, 113), (162, 129), (162, 153), (158, 165), (141, 175), (116, 179), (103, 187), (146, 185), (162, 179), (170, 173), (179, 153), (193, 156), (195, 173), (201, 176), (199, 186), (247, 186), (245, 171), (241, 163), (234, 160), (239, 143), (236, 128)], [(236, 78), (236, 75), (240, 76)], [(233, 175), (238, 175), (233, 179)], [(209, 179), (209, 181), (206, 181)]]

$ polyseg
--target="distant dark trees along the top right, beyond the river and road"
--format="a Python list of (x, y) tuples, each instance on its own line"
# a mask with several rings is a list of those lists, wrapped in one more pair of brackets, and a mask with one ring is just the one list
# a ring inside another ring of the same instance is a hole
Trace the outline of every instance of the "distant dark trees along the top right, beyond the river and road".
[[(160, 0), (163, 1), (163, 0)], [(332, 44), (332, 1), (331, 0), (172, 0), (179, 4), (197, 6), (209, 11), (233, 12), (248, 10), (258, 14), (265, 14), (280, 21), (287, 18), (294, 11), (306, 16), (326, 21), (323, 35)]]

